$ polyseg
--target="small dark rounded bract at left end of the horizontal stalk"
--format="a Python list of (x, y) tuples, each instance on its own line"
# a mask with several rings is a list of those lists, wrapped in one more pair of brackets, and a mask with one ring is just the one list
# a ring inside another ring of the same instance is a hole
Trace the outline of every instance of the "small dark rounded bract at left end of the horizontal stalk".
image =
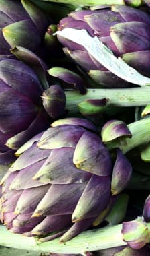
[(58, 85), (52, 85), (42, 94), (43, 106), (53, 119), (61, 117), (65, 113), (66, 96), (64, 90)]

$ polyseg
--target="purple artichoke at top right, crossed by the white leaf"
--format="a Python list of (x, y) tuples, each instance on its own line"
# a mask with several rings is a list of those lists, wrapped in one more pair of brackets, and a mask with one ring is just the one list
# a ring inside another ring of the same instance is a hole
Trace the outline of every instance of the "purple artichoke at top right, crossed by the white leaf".
[[(74, 11), (60, 20), (58, 30), (76, 28), (86, 30), (98, 39), (115, 56), (121, 57), (139, 73), (149, 77), (150, 60), (150, 15), (133, 7), (114, 5), (102, 9)], [(102, 86), (135, 86), (117, 77), (88, 54), (80, 44), (76, 44), (58, 34), (64, 46), (64, 53), (75, 61), (88, 75)]]

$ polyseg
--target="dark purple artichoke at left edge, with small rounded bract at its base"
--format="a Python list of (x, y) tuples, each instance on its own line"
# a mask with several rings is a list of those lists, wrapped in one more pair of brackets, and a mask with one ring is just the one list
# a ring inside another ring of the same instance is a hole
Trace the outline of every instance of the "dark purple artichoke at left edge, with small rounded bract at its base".
[[(30, 60), (33, 57), (36, 66), (40, 59), (24, 50), (26, 57), (27, 53)], [(64, 113), (64, 91), (57, 85), (44, 90), (47, 80), (44, 80), (44, 63), (41, 64), (39, 66), (43, 69), (38, 72), (39, 79), (33, 69), (22, 61), (0, 60), (0, 166), (3, 168), (15, 160), (17, 148), (48, 128), (52, 118)], [(53, 100), (46, 102), (52, 92)]]

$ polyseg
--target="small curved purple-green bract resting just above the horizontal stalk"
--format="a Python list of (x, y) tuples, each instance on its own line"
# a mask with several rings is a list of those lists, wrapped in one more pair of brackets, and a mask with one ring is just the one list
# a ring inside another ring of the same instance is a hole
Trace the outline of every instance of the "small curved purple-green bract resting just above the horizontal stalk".
[(86, 86), (84, 84), (84, 80), (75, 72), (70, 71), (69, 69), (65, 69), (64, 67), (52, 67), (48, 70), (48, 73), (49, 75), (57, 77), (65, 82), (66, 89), (72, 89), (73, 86), (75, 90), (80, 92), (80, 94), (86, 94)]

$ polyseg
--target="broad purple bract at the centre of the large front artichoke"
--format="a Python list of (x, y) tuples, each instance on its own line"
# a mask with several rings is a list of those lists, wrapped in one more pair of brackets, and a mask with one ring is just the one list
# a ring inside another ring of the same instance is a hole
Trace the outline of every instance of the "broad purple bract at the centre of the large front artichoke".
[(74, 148), (57, 148), (52, 150), (50, 156), (33, 179), (51, 184), (88, 182), (91, 174), (76, 168), (72, 162), (73, 155)]

